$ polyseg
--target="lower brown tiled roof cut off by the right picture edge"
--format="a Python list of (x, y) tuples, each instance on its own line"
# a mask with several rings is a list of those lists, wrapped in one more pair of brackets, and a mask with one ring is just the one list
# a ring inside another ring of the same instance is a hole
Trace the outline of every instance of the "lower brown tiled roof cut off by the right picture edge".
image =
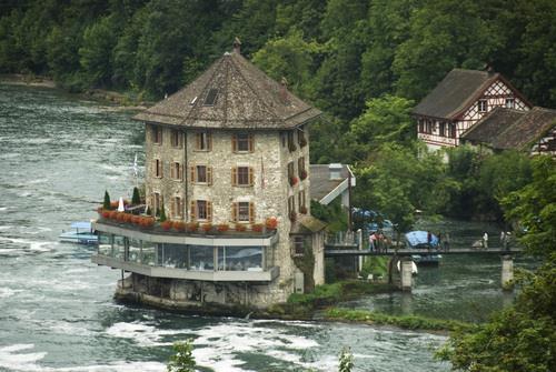
[(494, 149), (526, 149), (556, 125), (556, 110), (535, 107), (493, 140)]

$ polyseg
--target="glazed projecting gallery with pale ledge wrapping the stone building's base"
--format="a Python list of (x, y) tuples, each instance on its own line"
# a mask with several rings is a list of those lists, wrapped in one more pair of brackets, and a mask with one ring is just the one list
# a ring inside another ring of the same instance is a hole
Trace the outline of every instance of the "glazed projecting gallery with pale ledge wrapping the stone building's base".
[(272, 281), (278, 234), (269, 231), (178, 232), (113, 220), (95, 222), (93, 263), (156, 278)]

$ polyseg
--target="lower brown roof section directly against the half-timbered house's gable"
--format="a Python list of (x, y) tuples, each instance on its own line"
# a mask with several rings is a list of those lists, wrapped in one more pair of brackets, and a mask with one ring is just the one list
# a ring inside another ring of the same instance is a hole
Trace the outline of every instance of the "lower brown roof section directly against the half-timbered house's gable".
[(525, 111), (497, 107), (490, 111), (490, 113), (480, 119), (475, 125), (465, 131), (461, 134), (461, 140), (492, 145), (493, 141), (506, 128), (513, 125), (516, 120), (525, 114)]

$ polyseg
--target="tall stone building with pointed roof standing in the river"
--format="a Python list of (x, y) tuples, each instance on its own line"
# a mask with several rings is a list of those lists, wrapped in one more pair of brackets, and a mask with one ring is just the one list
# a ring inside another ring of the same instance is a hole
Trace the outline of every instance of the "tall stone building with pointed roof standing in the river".
[(236, 44), (135, 117), (146, 125), (151, 213), (163, 209), (198, 227), (163, 231), (101, 219), (92, 261), (131, 273), (119, 295), (172, 308), (265, 308), (322, 283), (325, 225), (310, 215), (308, 128), (319, 115)]

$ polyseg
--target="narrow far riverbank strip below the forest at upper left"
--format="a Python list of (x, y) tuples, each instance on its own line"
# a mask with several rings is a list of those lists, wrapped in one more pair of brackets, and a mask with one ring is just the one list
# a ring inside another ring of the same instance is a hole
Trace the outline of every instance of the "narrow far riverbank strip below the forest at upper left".
[(29, 76), (21, 73), (0, 74), (0, 83), (9, 86), (22, 86), (30, 88), (43, 89), (60, 89), (67, 94), (75, 95), (79, 99), (98, 101), (99, 103), (111, 104), (111, 111), (120, 110), (146, 110), (152, 102), (141, 100), (137, 94), (131, 92), (117, 92), (105, 89), (87, 89), (82, 92), (69, 92), (63, 87), (59, 87), (56, 81), (46, 77)]

